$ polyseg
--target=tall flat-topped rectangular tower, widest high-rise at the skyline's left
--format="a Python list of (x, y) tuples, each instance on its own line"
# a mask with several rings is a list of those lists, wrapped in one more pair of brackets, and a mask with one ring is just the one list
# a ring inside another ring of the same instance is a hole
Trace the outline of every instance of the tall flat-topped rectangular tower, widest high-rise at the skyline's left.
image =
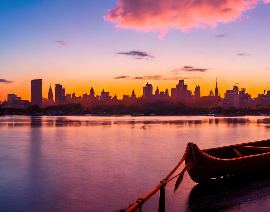
[(42, 108), (42, 79), (31, 81), (31, 104)]

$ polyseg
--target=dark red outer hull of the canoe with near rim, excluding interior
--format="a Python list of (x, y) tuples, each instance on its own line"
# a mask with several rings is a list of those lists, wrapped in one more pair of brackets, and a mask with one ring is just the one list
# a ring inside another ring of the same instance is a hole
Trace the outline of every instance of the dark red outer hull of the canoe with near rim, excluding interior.
[(240, 175), (248, 177), (250, 174), (258, 171), (268, 171), (270, 168), (270, 152), (222, 159), (206, 154), (196, 144), (189, 143), (189, 145), (190, 148), (185, 163), (187, 164), (190, 159), (193, 160), (195, 165), (188, 170), (188, 173), (190, 178), (197, 183)]

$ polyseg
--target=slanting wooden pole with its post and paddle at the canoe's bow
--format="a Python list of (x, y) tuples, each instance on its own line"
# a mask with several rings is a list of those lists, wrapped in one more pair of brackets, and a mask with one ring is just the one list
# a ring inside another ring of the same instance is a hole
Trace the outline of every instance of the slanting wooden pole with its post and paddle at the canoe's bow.
[(176, 189), (178, 188), (179, 184), (181, 183), (182, 179), (183, 179), (183, 175), (184, 172), (186, 170), (189, 170), (190, 168), (192, 168), (194, 166), (193, 161), (189, 161), (186, 165), (186, 167), (181, 171), (180, 174), (174, 176), (173, 178), (169, 179), (171, 177), (171, 175), (178, 169), (178, 167), (184, 162), (187, 153), (189, 151), (190, 146), (193, 146), (193, 143), (188, 143), (187, 144), (187, 148), (186, 151), (181, 159), (181, 161), (179, 161), (179, 163), (176, 165), (176, 167), (174, 167), (174, 169), (162, 180), (160, 181), (159, 185), (157, 185), (155, 187), (155, 189), (153, 189), (151, 192), (149, 192), (148, 194), (146, 194), (143, 198), (139, 198), (137, 199), (136, 203), (133, 204), (129, 209), (126, 210), (126, 212), (135, 212), (138, 208), (139, 208), (139, 212), (142, 211), (142, 205), (143, 203), (146, 202), (146, 200), (148, 200), (152, 195), (154, 195), (157, 191), (160, 191), (159, 194), (159, 212), (165, 212), (165, 186), (166, 184), (171, 181), (172, 179), (174, 179), (175, 177), (178, 177), (175, 188), (174, 188), (174, 192), (176, 191)]

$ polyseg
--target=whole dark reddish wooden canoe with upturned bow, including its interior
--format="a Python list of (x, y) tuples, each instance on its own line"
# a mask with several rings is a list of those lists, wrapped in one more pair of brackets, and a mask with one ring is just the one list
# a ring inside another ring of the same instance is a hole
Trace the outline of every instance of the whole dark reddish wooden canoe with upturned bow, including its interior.
[(270, 139), (203, 150), (188, 143), (186, 151), (186, 170), (197, 183), (270, 170)]

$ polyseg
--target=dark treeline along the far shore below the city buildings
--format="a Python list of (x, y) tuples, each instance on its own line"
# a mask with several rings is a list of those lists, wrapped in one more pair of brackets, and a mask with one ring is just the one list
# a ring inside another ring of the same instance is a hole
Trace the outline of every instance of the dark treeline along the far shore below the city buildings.
[[(195, 104), (196, 103), (196, 104)], [(123, 99), (118, 101), (95, 100), (91, 102), (81, 103), (67, 103), (59, 105), (51, 105), (46, 108), (39, 108), (37, 105), (25, 108), (0, 108), (0, 113), (8, 111), (8, 113), (50, 113), (52, 111), (61, 113), (80, 113), (80, 114), (223, 114), (223, 113), (239, 113), (239, 114), (265, 114), (269, 113), (269, 107), (261, 107), (258, 105), (257, 109), (252, 108), (235, 108), (230, 107), (226, 110), (220, 106), (215, 105), (209, 99), (201, 99), (200, 101), (190, 100), (158, 100), (146, 101), (143, 98)]]

